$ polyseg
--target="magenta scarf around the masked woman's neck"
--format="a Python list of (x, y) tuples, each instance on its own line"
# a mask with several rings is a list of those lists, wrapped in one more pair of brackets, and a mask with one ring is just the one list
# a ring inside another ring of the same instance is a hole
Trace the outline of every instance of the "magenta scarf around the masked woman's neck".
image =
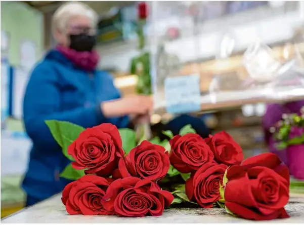
[(87, 71), (94, 70), (99, 61), (99, 55), (94, 50), (92, 52), (77, 52), (61, 45), (58, 45), (56, 49), (71, 60), (73, 64)]

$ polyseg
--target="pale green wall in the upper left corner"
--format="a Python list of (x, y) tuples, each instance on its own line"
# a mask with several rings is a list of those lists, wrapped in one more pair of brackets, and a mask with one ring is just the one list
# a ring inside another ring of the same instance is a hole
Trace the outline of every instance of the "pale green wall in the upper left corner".
[(43, 14), (21, 2), (1, 2), (1, 30), (8, 33), (10, 39), (9, 61), (19, 64), (20, 43), (24, 39), (36, 44), (36, 57), (43, 53)]

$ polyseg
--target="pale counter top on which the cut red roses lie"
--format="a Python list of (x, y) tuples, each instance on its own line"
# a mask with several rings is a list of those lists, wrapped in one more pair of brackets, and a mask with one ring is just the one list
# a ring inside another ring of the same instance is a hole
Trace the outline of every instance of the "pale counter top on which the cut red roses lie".
[[(224, 209), (166, 209), (162, 216), (125, 218), (118, 216), (68, 215), (61, 203), (61, 195), (54, 196), (32, 207), (25, 208), (1, 220), (1, 223), (249, 223), (250, 220), (235, 218)], [(285, 207), (290, 215), (272, 223), (301, 223), (304, 220), (304, 195), (292, 194)]]

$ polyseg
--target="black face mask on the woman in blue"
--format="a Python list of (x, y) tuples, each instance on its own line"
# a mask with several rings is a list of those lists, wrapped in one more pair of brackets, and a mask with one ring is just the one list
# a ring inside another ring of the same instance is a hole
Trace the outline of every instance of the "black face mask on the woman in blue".
[(70, 48), (77, 52), (91, 52), (96, 45), (96, 37), (85, 33), (70, 34)]

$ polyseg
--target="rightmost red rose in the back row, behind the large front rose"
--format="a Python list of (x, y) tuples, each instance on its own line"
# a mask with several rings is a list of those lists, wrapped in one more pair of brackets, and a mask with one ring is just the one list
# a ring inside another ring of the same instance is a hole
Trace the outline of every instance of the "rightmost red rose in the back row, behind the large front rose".
[(214, 155), (214, 160), (219, 164), (239, 165), (244, 156), (241, 146), (225, 131), (210, 135), (205, 138)]

